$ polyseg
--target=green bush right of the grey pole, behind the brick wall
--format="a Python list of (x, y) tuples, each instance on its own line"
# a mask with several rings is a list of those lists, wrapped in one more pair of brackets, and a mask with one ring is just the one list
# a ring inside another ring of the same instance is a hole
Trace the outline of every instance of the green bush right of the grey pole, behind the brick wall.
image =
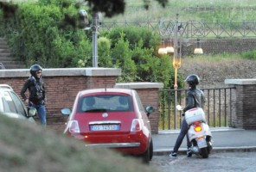
[[(174, 88), (170, 55), (157, 54), (159, 34), (145, 28), (113, 28), (104, 36), (112, 41), (112, 64), (122, 69), (119, 82), (159, 82)], [(99, 57), (100, 58), (100, 57)], [(178, 76), (179, 88), (183, 78)]]

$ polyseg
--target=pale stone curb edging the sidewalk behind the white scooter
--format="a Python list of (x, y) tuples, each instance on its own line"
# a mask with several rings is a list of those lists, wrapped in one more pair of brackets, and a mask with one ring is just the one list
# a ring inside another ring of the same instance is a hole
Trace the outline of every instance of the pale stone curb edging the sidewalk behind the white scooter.
[[(153, 151), (154, 156), (167, 156), (170, 154), (171, 149), (157, 149)], [(241, 146), (241, 147), (214, 147), (211, 153), (223, 153), (223, 152), (250, 152), (256, 151), (256, 146)], [(186, 154), (186, 149), (180, 149), (179, 154)]]

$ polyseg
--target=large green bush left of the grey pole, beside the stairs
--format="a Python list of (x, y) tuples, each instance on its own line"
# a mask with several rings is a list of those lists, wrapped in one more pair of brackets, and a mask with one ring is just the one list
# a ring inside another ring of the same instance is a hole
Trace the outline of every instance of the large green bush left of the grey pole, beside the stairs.
[(77, 28), (77, 8), (71, 0), (18, 3), (14, 17), (6, 21), (1, 16), (12, 56), (28, 66), (35, 62), (47, 67), (76, 66), (91, 47), (85, 32)]

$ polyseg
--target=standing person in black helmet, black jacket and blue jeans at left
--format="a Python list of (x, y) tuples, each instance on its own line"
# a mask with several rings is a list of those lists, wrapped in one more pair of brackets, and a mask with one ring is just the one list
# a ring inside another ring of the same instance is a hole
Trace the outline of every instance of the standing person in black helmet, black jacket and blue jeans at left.
[[(21, 95), (23, 100), (29, 104), (29, 107), (35, 107), (42, 126), (46, 126), (46, 109), (45, 109), (45, 86), (42, 82), (42, 67), (34, 64), (30, 67), (31, 76), (24, 83)], [(25, 92), (29, 89), (29, 98)]]

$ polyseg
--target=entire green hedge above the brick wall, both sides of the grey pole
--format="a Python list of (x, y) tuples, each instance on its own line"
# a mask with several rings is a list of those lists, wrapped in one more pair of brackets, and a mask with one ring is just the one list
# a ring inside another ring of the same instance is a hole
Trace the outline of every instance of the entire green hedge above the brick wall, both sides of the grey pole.
[[(72, 0), (8, 3), (1, 11), (1, 34), (9, 40), (12, 56), (43, 67), (91, 67), (92, 31), (80, 28)], [(8, 15), (6, 15), (8, 14)], [(90, 18), (91, 20), (91, 18)], [(91, 22), (92, 23), (92, 22)], [(146, 28), (114, 28), (99, 34), (99, 67), (122, 69), (118, 82), (158, 82), (173, 89), (174, 71), (169, 55), (157, 54), (159, 34)], [(179, 76), (182, 88), (182, 76)]]

